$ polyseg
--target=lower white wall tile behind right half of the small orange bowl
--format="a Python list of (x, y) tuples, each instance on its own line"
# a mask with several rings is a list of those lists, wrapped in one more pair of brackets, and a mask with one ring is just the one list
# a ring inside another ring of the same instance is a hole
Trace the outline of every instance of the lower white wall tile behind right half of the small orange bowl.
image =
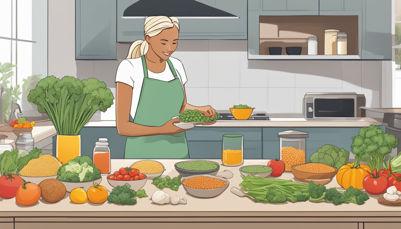
[(241, 87), (239, 89), (239, 103), (255, 107), (255, 111), (268, 112), (269, 106), (267, 102), (267, 91), (267, 87)]

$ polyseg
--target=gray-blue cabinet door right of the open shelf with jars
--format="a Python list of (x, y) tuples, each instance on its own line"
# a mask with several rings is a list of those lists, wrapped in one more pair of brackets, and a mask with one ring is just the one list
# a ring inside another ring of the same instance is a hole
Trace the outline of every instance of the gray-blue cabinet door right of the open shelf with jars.
[(363, 0), (362, 59), (391, 60), (391, 1)]

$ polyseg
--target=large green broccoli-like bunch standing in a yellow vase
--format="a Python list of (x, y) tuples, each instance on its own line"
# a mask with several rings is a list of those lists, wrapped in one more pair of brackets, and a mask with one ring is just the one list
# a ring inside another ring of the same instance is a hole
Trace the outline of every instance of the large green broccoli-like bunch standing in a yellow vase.
[(62, 164), (80, 156), (81, 136), (95, 111), (106, 111), (113, 104), (113, 93), (95, 78), (79, 80), (71, 76), (58, 79), (53, 75), (41, 79), (30, 90), (28, 101), (47, 113), (57, 131), (56, 156)]

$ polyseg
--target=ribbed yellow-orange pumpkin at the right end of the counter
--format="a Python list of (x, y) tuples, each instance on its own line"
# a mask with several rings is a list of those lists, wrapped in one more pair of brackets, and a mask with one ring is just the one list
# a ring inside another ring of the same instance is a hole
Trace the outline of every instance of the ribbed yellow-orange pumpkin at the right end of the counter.
[(353, 166), (353, 163), (347, 163), (341, 166), (337, 172), (337, 182), (345, 189), (351, 186), (363, 189), (363, 179), (365, 176), (369, 175), (368, 172), (372, 172), (372, 170), (369, 166), (364, 164), (356, 168), (352, 168)]

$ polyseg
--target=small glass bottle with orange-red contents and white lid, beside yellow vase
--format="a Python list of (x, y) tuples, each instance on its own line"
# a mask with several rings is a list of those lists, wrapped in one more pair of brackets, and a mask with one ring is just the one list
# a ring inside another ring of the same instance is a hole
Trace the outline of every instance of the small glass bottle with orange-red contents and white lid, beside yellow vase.
[(99, 138), (93, 148), (93, 164), (100, 170), (101, 174), (111, 172), (110, 148), (107, 138)]

